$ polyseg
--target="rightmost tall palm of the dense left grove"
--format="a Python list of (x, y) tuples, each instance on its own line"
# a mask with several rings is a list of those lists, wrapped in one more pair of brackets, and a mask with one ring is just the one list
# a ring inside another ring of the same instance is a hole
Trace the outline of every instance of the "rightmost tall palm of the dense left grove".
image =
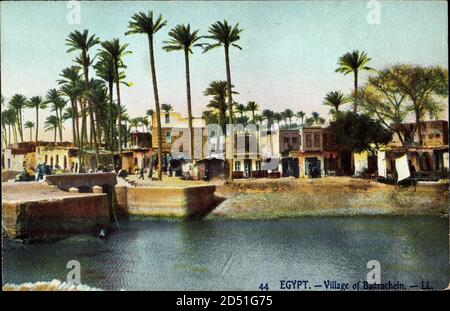
[[(117, 95), (117, 105), (120, 110), (120, 74), (119, 68), (123, 67), (122, 58), (128, 54), (131, 54), (131, 51), (127, 51), (128, 44), (120, 44), (119, 39), (112, 39), (110, 41), (104, 41), (101, 43), (102, 50), (100, 51), (100, 55), (102, 57), (110, 57), (113, 65), (114, 65), (114, 73), (115, 73), (115, 82), (116, 82), (116, 95)], [(122, 159), (122, 119), (121, 115), (118, 115), (118, 127), (119, 127), (119, 155)]]

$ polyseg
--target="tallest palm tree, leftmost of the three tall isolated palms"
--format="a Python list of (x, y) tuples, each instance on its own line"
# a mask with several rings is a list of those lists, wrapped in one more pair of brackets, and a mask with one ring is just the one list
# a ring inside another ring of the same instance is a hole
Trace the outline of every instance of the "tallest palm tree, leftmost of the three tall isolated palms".
[(156, 127), (158, 136), (158, 179), (162, 179), (162, 130), (161, 130), (161, 110), (159, 107), (159, 94), (158, 83), (156, 81), (156, 66), (155, 55), (153, 48), (153, 36), (166, 25), (166, 21), (163, 20), (162, 15), (158, 18), (153, 18), (153, 12), (149, 11), (147, 14), (139, 12), (131, 17), (131, 21), (128, 23), (128, 31), (125, 35), (129, 34), (145, 34), (148, 39), (148, 47), (150, 53), (150, 67), (152, 73), (153, 95), (155, 98), (156, 108)]

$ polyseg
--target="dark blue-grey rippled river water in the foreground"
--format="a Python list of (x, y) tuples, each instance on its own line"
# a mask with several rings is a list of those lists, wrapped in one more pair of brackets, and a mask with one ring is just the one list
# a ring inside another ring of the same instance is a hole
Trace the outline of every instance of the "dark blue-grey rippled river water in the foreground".
[(324, 289), (326, 280), (366, 280), (367, 262), (378, 260), (383, 283), (441, 289), (449, 283), (448, 228), (436, 216), (123, 221), (105, 240), (5, 239), (3, 283), (66, 280), (67, 262), (78, 260), (81, 282), (106, 290), (277, 290), (283, 280)]

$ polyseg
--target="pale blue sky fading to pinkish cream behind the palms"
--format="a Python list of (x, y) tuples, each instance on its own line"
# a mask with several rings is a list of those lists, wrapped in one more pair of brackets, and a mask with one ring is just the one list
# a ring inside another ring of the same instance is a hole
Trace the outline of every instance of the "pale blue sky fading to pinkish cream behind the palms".
[[(119, 38), (129, 44), (132, 54), (124, 63), (133, 85), (121, 87), (121, 102), (130, 117), (143, 116), (154, 109), (147, 38), (124, 33), (133, 14), (148, 10), (167, 20), (154, 38), (160, 102), (184, 115), (183, 54), (162, 50), (167, 33), (180, 23), (190, 23), (204, 35), (218, 20), (239, 23), (242, 50), (230, 54), (232, 83), (239, 92), (234, 99), (256, 101), (261, 109), (317, 111), (328, 118), (325, 94), (348, 93), (353, 87), (352, 76), (335, 73), (337, 60), (355, 49), (366, 51), (376, 69), (396, 63), (448, 68), (445, 1), (380, 1), (379, 24), (367, 21), (373, 13), (369, 2), (374, 1), (81, 1), (80, 24), (71, 24), (68, 1), (2, 1), (1, 93), (7, 100), (16, 93), (45, 96), (77, 56), (66, 53), (68, 34), (88, 29), (101, 40)], [(193, 113), (200, 116), (209, 102), (204, 89), (213, 80), (226, 80), (223, 49), (205, 54), (196, 49), (190, 65)], [(363, 74), (361, 83), (366, 78)], [(49, 113), (41, 113), (39, 128)], [(34, 122), (34, 112), (26, 111), (24, 119)], [(69, 123), (66, 130), (71, 130)]]

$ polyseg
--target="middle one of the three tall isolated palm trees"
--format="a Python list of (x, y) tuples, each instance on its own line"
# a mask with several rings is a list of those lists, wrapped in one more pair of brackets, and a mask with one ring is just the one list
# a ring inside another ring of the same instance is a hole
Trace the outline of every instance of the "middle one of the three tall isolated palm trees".
[(191, 102), (191, 78), (189, 68), (189, 54), (192, 54), (192, 48), (202, 47), (202, 43), (198, 43), (201, 40), (201, 36), (197, 35), (198, 30), (191, 32), (191, 25), (177, 25), (175, 28), (169, 31), (169, 41), (164, 41), (165, 46), (163, 49), (167, 52), (171, 51), (183, 51), (184, 52), (184, 65), (186, 76), (186, 98), (188, 107), (188, 122), (190, 132), (190, 147), (191, 147), (191, 160), (194, 159), (194, 127), (192, 125), (192, 102)]

